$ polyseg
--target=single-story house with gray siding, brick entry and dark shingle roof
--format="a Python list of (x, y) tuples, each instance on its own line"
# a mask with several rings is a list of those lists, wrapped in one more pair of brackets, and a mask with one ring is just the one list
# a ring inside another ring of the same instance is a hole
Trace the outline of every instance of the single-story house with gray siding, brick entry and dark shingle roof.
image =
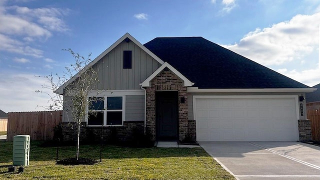
[[(314, 88), (202, 37), (157, 37), (142, 45), (125, 33), (88, 66), (99, 80), (91, 94), (99, 91), (106, 108), (85, 118), (84, 135), (99, 134), (103, 125), (103, 133), (116, 129), (122, 140), (136, 127), (153, 140), (311, 138), (304, 97)], [(77, 75), (56, 93), (65, 95), (64, 87)], [(70, 139), (75, 134), (67, 117), (64, 110), (64, 138)]]

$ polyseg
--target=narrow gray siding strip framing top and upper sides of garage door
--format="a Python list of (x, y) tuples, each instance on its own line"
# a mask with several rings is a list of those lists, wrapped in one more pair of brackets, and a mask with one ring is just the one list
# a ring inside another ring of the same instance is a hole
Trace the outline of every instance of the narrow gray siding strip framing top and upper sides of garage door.
[[(305, 93), (302, 93), (305, 97)], [(188, 93), (188, 120), (193, 120), (193, 95), (301, 95), (301, 93), (297, 92), (230, 92), (230, 93), (221, 93), (221, 92), (212, 92), (212, 93)], [(301, 103), (301, 102), (299, 102)], [(303, 101), (303, 109), (304, 113), (303, 116), (299, 115), (300, 119), (306, 118), (306, 107), (305, 107), (305, 100)], [(297, 107), (299, 108), (299, 107)]]

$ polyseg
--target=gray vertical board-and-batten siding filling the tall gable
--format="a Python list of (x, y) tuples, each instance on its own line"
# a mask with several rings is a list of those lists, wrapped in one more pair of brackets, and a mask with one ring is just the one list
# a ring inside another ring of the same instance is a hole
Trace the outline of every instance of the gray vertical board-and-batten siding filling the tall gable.
[[(123, 50), (132, 51), (132, 68), (123, 68)], [(92, 67), (97, 72), (97, 90), (140, 89), (139, 83), (161, 64), (132, 41), (121, 42)]]

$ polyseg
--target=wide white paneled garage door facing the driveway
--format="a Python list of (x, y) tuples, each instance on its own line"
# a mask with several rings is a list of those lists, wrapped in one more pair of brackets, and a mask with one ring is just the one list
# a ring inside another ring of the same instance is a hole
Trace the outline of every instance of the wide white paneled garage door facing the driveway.
[(197, 141), (296, 141), (295, 96), (193, 96)]

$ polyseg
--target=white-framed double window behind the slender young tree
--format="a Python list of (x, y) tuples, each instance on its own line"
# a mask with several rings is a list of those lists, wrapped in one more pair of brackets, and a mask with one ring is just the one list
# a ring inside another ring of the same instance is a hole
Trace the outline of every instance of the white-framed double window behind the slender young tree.
[(88, 125), (122, 125), (123, 96), (89, 97)]

